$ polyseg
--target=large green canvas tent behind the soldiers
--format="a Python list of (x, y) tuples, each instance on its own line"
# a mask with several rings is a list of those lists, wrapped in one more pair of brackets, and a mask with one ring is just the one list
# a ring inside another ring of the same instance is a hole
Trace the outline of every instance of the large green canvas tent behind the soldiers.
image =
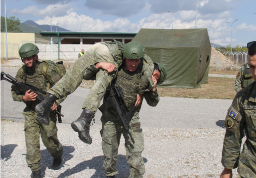
[(207, 28), (141, 28), (132, 41), (145, 46), (153, 62), (167, 68), (167, 78), (160, 86), (195, 89), (208, 82), (211, 45)]

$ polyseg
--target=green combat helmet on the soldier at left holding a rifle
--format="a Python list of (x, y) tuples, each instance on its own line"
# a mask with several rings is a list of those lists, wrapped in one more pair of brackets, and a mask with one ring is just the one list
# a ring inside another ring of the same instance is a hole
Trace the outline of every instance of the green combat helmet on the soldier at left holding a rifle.
[(36, 55), (38, 53), (39, 53), (39, 49), (38, 49), (37, 45), (34, 45), (32, 43), (25, 43), (19, 49), (19, 54), (20, 54), (21, 60), (22, 60), (22, 58), (30, 57), (30, 56)]

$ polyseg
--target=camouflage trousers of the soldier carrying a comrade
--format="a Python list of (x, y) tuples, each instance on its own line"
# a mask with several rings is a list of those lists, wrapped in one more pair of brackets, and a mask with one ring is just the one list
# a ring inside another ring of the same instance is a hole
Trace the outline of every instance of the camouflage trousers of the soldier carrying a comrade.
[(117, 155), (121, 134), (123, 134), (125, 139), (126, 159), (130, 168), (128, 178), (142, 178), (145, 174), (144, 160), (141, 156), (144, 150), (144, 138), (138, 119), (132, 119), (130, 121), (130, 132), (135, 144), (132, 143), (129, 134), (124, 130), (122, 124), (106, 121), (104, 116), (101, 117), (101, 121), (102, 129), (100, 134), (102, 136), (101, 144), (104, 153), (103, 168), (105, 169), (106, 176), (118, 174), (118, 169), (116, 169)]

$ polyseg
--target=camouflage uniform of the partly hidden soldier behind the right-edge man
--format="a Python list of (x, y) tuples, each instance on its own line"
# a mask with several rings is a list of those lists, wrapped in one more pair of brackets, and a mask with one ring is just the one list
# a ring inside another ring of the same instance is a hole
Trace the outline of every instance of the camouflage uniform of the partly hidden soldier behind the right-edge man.
[[(245, 70), (246, 69), (246, 70)], [(249, 65), (244, 64), (238, 71), (236, 75), (236, 81), (234, 84), (234, 88), (236, 90), (236, 93), (240, 91), (240, 89), (245, 88), (248, 86), (250, 83), (254, 81), (252, 74), (249, 70)]]

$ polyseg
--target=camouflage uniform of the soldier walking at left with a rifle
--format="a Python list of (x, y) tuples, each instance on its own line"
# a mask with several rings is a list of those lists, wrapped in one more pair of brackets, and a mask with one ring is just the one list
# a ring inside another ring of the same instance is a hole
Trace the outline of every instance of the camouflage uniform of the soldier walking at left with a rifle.
[[(32, 85), (43, 91), (47, 91), (48, 81), (51, 85), (57, 83), (61, 76), (57, 74), (54, 67), (49, 65), (47, 70), (47, 79), (41, 73), (42, 62), (37, 62), (35, 69), (27, 69), (26, 84)], [(15, 79), (19, 82), (25, 82), (24, 71), (20, 68), (16, 74)], [(37, 113), (34, 107), (39, 104), (37, 101), (24, 101), (23, 95), (16, 94), (17, 87), (11, 86), (11, 94), (14, 101), (23, 101), (26, 104), (23, 110), (23, 116), (25, 116), (25, 140), (27, 146), (26, 161), (32, 171), (39, 170), (41, 165), (41, 153), (40, 153), (40, 142), (39, 134), (41, 134), (42, 141), (46, 146), (49, 153), (54, 158), (59, 158), (62, 155), (61, 143), (57, 137), (57, 118), (54, 113), (50, 113), (49, 125), (41, 125), (37, 120)], [(40, 95), (45, 97), (46, 95), (39, 92)], [(56, 102), (59, 104), (65, 98), (59, 99)]]

